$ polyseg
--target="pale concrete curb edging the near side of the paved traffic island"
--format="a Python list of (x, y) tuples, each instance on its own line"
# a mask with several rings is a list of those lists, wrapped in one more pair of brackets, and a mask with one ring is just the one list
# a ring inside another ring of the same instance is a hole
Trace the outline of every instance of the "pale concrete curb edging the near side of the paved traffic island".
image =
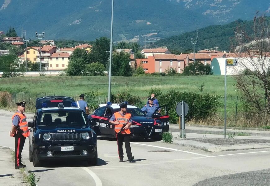
[(223, 145), (215, 145), (215, 144), (203, 143), (203, 142), (198, 142), (198, 141), (193, 141), (193, 140), (181, 140), (181, 139), (173, 141), (172, 144), (194, 147), (194, 148), (204, 150), (206, 152), (221, 152), (221, 151), (270, 148), (269, 143), (237, 144), (237, 145), (223, 146)]

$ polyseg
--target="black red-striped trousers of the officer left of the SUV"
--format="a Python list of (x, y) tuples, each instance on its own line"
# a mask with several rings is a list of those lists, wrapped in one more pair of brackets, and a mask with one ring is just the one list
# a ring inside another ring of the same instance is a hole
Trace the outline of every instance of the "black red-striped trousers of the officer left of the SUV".
[(23, 135), (15, 135), (15, 166), (21, 165), (21, 152), (25, 145), (25, 139)]

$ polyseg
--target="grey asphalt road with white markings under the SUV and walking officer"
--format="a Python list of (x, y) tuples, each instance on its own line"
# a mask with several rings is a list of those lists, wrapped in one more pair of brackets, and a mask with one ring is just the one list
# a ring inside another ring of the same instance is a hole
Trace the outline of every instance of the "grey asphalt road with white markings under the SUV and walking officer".
[[(9, 137), (11, 118), (0, 116), (0, 121), (0, 146), (14, 149), (14, 139)], [(28, 170), (40, 176), (39, 186), (254, 186), (265, 185), (266, 181), (269, 183), (268, 149), (209, 153), (155, 141), (133, 141), (131, 148), (134, 162), (127, 162), (124, 157), (124, 162), (119, 163), (116, 141), (98, 138), (97, 166), (91, 167), (86, 162), (74, 161), (50, 162), (46, 167), (36, 168), (29, 162), (29, 143), (26, 140), (22, 160)]]

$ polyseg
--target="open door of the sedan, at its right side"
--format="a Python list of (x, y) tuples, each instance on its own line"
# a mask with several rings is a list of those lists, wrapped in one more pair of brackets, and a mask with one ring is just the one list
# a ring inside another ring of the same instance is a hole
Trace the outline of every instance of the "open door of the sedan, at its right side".
[(169, 131), (169, 115), (166, 105), (158, 107), (153, 113), (152, 117), (160, 120), (164, 125), (164, 132)]

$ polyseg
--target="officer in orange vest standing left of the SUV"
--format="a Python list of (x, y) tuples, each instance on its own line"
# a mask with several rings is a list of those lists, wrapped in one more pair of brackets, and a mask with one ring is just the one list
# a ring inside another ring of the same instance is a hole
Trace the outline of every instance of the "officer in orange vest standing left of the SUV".
[(29, 129), (24, 114), (25, 103), (25, 101), (16, 103), (18, 111), (12, 116), (10, 136), (15, 138), (15, 169), (26, 167), (21, 163), (21, 152), (25, 144), (25, 139), (29, 136)]

